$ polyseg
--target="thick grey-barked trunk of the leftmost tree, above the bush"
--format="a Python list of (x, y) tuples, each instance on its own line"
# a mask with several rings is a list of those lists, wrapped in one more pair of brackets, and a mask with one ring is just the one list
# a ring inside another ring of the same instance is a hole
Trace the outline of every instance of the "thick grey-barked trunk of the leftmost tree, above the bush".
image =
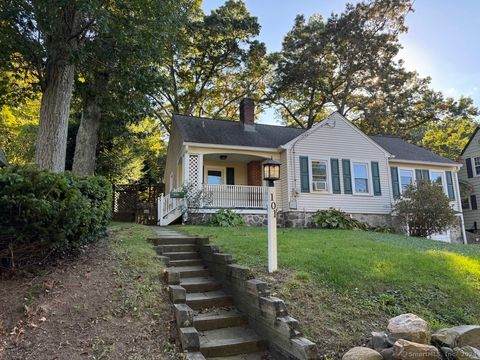
[(40, 108), (35, 162), (41, 169), (63, 172), (75, 66), (56, 61), (48, 67)]

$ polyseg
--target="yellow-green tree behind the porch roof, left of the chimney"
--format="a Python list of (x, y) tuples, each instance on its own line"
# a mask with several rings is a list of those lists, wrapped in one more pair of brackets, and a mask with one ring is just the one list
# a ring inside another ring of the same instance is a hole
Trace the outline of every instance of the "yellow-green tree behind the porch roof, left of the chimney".
[(268, 63), (265, 45), (254, 40), (259, 30), (242, 1), (191, 15), (168, 61), (158, 63), (166, 83), (151, 94), (155, 116), (167, 131), (172, 113), (233, 118), (243, 97), (261, 98)]

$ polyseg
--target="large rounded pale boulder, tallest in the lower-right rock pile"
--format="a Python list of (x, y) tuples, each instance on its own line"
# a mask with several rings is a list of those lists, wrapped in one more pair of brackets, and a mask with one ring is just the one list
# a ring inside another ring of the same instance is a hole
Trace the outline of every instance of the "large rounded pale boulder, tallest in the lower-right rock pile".
[(404, 339), (419, 344), (430, 343), (427, 322), (415, 314), (403, 314), (390, 319), (387, 331), (394, 340)]

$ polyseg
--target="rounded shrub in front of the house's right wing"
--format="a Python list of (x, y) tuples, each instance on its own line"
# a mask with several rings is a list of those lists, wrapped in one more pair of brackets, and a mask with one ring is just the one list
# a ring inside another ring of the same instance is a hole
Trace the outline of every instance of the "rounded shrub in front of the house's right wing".
[(457, 221), (443, 188), (430, 181), (410, 185), (394, 205), (394, 212), (411, 236), (440, 233)]

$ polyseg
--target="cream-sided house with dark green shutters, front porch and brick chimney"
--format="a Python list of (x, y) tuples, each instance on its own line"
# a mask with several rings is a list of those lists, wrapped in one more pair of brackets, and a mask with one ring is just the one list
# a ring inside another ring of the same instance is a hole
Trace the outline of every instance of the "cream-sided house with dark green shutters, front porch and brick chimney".
[(339, 113), (309, 130), (256, 124), (254, 113), (253, 101), (244, 99), (240, 121), (173, 116), (160, 224), (180, 215), (181, 199), (169, 194), (187, 183), (211, 197), (191, 212), (191, 222), (231, 208), (248, 223), (264, 223), (262, 162), (273, 159), (281, 163), (275, 186), (283, 226), (308, 226), (317, 210), (331, 207), (372, 225), (391, 225), (395, 199), (409, 184), (430, 179), (458, 211), (459, 226), (436, 238), (462, 241), (460, 164), (399, 138), (367, 136)]

